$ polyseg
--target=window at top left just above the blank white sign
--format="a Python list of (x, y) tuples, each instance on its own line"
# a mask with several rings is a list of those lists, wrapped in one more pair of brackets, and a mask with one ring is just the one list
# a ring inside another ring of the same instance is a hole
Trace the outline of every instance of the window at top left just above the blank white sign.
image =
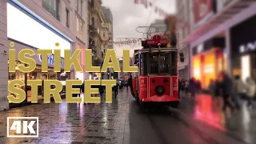
[(59, 0), (42, 0), (42, 7), (52, 14), (55, 18), (60, 20), (59, 16)]

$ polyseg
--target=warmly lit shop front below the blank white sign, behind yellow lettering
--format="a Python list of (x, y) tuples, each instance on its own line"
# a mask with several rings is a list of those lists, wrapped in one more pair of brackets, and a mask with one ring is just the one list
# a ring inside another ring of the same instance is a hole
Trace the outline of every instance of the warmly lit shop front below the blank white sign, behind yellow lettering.
[[(66, 93), (66, 79), (70, 79), (70, 73), (64, 72), (64, 59), (61, 58), (61, 72), (54, 72), (54, 55), (48, 56), (48, 72), (42, 72), (42, 56), (41, 55), (34, 55), (34, 60), (37, 64), (34, 71), (30, 73), (22, 73), (22, 71), (18, 70), (18, 65), (24, 65), (22, 62), (18, 61), (18, 52), (25, 48), (24, 45), (21, 43), (15, 41), (14, 39), (10, 39), (10, 42), (14, 42), (16, 49), (16, 66), (15, 66), (15, 73), (9, 73), (9, 82), (14, 79), (22, 80), (25, 83), (25, 86), (22, 86), (22, 89), (26, 92), (26, 102), (31, 102), (31, 86), (27, 85), (27, 80), (46, 80), (46, 79), (58, 79), (62, 82), (62, 92), (61, 95), (65, 95)], [(33, 47), (26, 46), (26, 49), (34, 50), (36, 52), (36, 49)], [(9, 93), (10, 94), (10, 93)], [(8, 95), (9, 95), (8, 94)], [(38, 100), (43, 99), (43, 90), (42, 86), (38, 86)], [(11, 104), (10, 106), (16, 106), (18, 104)]]

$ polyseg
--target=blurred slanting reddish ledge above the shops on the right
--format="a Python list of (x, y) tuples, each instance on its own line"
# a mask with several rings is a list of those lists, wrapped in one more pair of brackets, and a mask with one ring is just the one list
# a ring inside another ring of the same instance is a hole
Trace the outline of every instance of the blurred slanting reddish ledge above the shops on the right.
[(212, 30), (214, 27), (222, 25), (232, 18), (235, 14), (238, 14), (242, 10), (245, 10), (251, 6), (255, 0), (233, 0), (230, 4), (223, 8), (222, 11), (215, 14), (208, 22), (199, 26), (197, 30), (194, 30), (190, 35), (184, 38), (180, 43), (192, 42), (194, 39), (199, 38), (202, 34), (206, 34), (208, 31)]

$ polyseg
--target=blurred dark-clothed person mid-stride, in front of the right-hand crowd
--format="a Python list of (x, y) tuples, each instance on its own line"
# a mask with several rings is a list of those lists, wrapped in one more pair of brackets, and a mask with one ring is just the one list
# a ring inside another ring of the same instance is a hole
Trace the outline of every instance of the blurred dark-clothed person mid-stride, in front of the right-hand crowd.
[(230, 102), (230, 97), (232, 94), (232, 81), (231, 78), (225, 74), (222, 73), (222, 98), (224, 105), (222, 107), (223, 111), (226, 111), (226, 107), (230, 107), (231, 111), (234, 111), (234, 106)]

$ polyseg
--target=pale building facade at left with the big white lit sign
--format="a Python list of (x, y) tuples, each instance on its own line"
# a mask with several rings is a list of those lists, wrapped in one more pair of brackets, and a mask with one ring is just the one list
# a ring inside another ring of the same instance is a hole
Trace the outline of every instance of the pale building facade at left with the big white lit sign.
[[(25, 83), (22, 89), (26, 91), (26, 101), (31, 101), (31, 87), (26, 85), (30, 79), (58, 79), (62, 82), (62, 94), (65, 94), (66, 79), (86, 79), (86, 73), (76, 73), (73, 68), (64, 72), (64, 50), (74, 51), (77, 48), (88, 47), (87, 31), (87, 2), (83, 0), (2, 0), (0, 2), (0, 48), (3, 57), (0, 58), (2, 66), (2, 81), (0, 87), (0, 110), (8, 109), (14, 105), (6, 99), (8, 82), (20, 79)], [(11, 45), (10, 45), (11, 43)], [(42, 73), (42, 56), (34, 55), (37, 67), (31, 73), (22, 73), (16, 69), (15, 73), (8, 72), (8, 50), (16, 50), (16, 65), (23, 65), (17, 58), (22, 49), (60, 49), (61, 72), (54, 72), (54, 54), (48, 56), (49, 70)], [(80, 62), (84, 68), (84, 55), (80, 55)], [(88, 75), (88, 74), (87, 74)], [(8, 78), (8, 79), (7, 79)], [(42, 99), (42, 86), (38, 88), (38, 100)], [(21, 104), (22, 104), (21, 103)]]

